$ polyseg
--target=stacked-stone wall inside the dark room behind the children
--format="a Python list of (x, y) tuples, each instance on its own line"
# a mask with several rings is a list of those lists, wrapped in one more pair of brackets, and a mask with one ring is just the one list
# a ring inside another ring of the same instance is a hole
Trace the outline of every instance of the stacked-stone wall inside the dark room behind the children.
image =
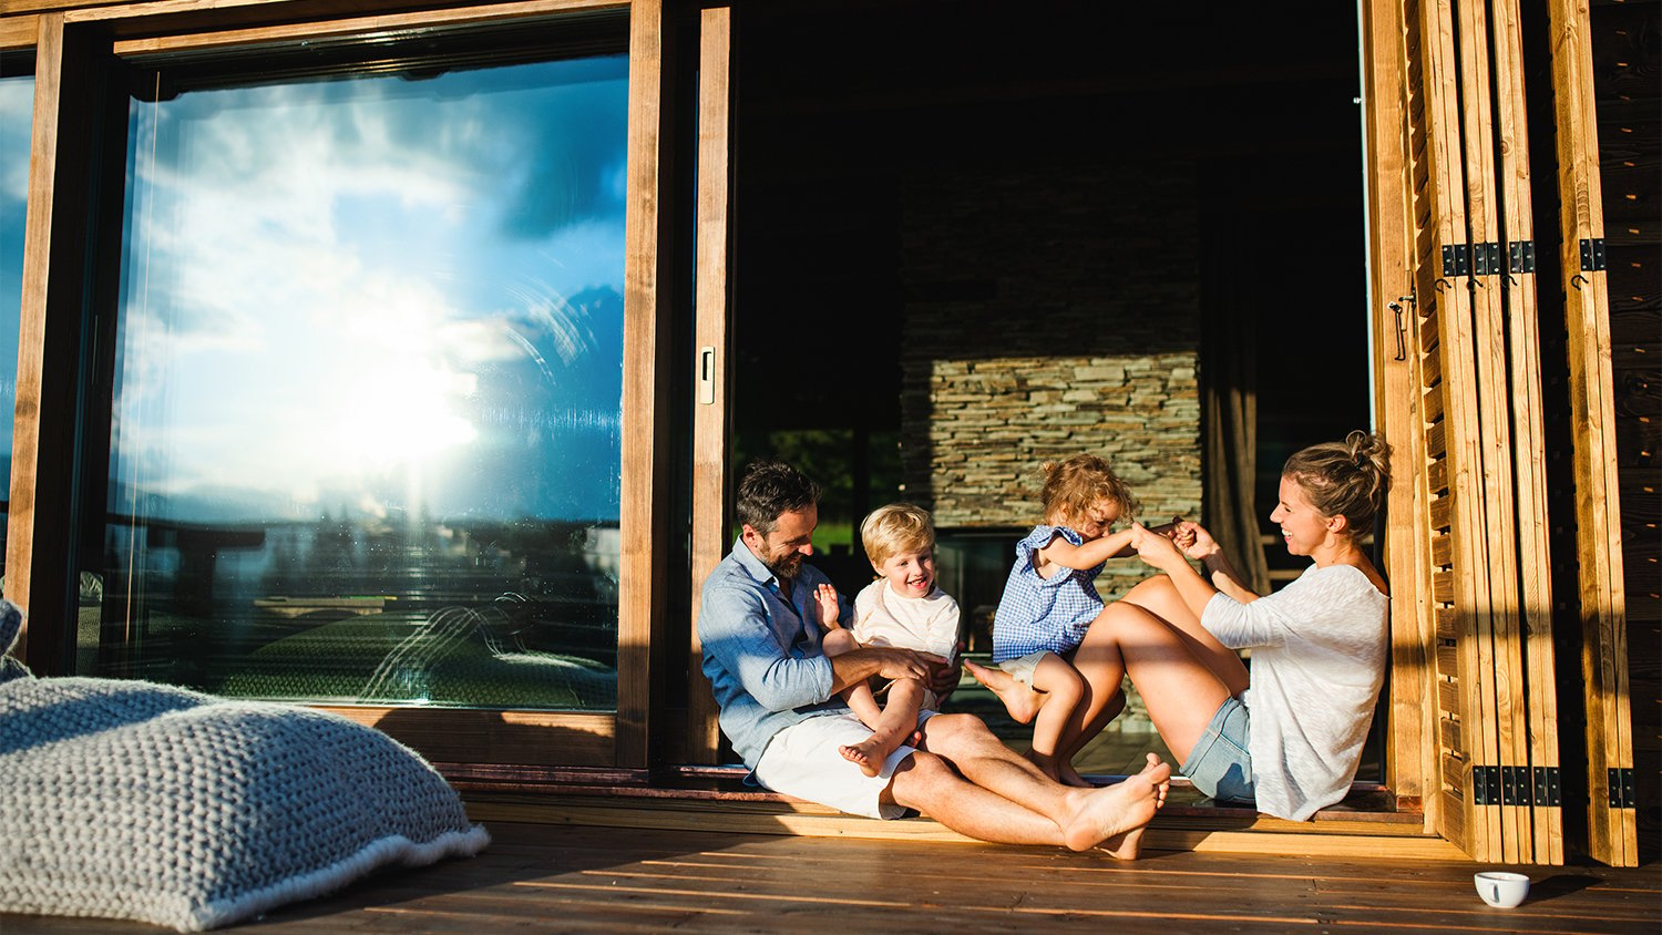
[[(1079, 452), (1109, 458), (1142, 518), (1198, 518), (1192, 174), (1160, 164), (909, 179), (901, 465), (907, 497), (937, 526), (1040, 521), (1039, 465)], [(1100, 586), (1114, 595), (1145, 575), (1135, 560), (1110, 561)]]

